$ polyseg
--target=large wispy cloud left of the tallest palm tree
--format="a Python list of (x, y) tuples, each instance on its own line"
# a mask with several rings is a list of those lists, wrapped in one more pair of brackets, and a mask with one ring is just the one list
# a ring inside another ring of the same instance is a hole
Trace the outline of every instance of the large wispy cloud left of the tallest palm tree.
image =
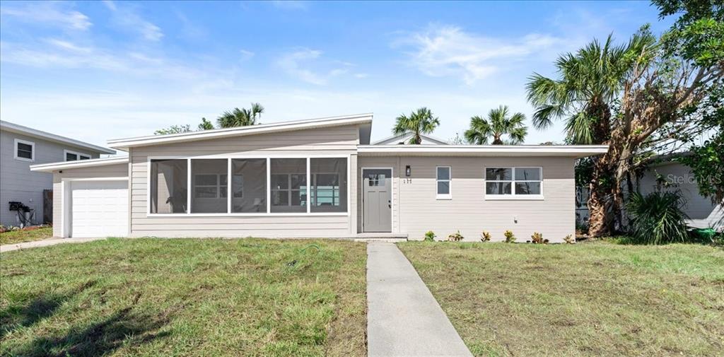
[(407, 33), (392, 46), (408, 49), (410, 63), (433, 77), (458, 76), (471, 85), (495, 72), (504, 62), (525, 59), (560, 43), (550, 35), (532, 33), (522, 38), (494, 38), (467, 33), (457, 26), (430, 25)]

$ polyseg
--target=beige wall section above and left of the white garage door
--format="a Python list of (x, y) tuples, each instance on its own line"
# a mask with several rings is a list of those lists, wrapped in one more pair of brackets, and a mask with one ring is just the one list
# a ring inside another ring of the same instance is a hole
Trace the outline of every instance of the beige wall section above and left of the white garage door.
[[(104, 166), (97, 166), (97, 167), (81, 167), (78, 169), (62, 169), (60, 170), (62, 172), (54, 172), (51, 175), (53, 180), (53, 217), (54, 217), (54, 224), (53, 224), (53, 236), (54, 237), (62, 237), (63, 236), (63, 224), (65, 224), (64, 221), (64, 202), (63, 202), (63, 196), (66, 196), (66, 200), (70, 200), (70, 197), (67, 197), (69, 193), (67, 192), (67, 186), (64, 186), (64, 182), (68, 182), (72, 179), (98, 179), (101, 180), (104, 177), (128, 177), (128, 165), (127, 164), (114, 164), (114, 165), (104, 165)], [(34, 172), (35, 173), (35, 172)], [(66, 183), (67, 185), (67, 183)]]

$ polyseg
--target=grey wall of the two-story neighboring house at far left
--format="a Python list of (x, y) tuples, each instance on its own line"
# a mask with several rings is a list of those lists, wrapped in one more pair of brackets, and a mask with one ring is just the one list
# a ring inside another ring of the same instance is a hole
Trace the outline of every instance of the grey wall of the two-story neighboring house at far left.
[[(35, 143), (35, 161), (14, 159), (15, 139)], [(20, 225), (17, 212), (8, 210), (9, 201), (24, 203), (35, 210), (35, 221), (43, 220), (43, 190), (53, 189), (53, 175), (31, 172), (30, 165), (65, 161), (64, 150), (88, 154), (93, 159), (98, 159), (99, 155), (97, 151), (0, 130), (0, 224)]]

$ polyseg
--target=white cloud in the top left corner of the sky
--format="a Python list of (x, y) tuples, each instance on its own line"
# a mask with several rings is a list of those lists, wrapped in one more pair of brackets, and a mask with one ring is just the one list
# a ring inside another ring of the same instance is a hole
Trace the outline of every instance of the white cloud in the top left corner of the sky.
[(23, 7), (0, 7), (0, 14), (33, 25), (59, 26), (67, 30), (88, 30), (93, 25), (88, 16), (70, 9), (62, 2), (32, 2)]

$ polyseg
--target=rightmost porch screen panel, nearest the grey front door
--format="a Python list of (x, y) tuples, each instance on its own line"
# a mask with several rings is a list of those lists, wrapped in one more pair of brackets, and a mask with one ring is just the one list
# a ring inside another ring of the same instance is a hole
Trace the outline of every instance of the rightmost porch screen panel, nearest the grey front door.
[(310, 211), (347, 211), (347, 159), (310, 159)]

